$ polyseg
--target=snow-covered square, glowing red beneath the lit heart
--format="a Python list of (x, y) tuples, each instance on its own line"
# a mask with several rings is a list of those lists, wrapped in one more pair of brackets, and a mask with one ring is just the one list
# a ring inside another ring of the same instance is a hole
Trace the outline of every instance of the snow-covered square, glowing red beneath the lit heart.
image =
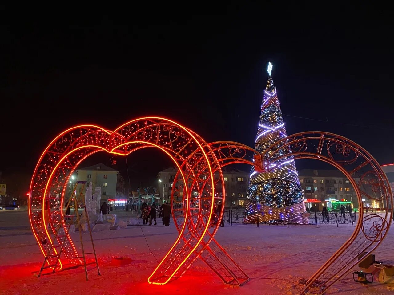
[[(118, 220), (131, 212), (115, 212)], [(37, 278), (43, 255), (28, 223), (27, 211), (0, 212), (0, 294), (299, 294), (298, 281), (309, 278), (349, 237), (351, 225), (233, 224), (219, 228), (216, 240), (249, 275), (242, 287), (224, 285), (208, 267), (197, 260), (186, 274), (164, 286), (150, 285), (147, 278), (177, 237), (172, 220), (164, 227), (129, 226), (126, 229), (93, 232), (101, 276), (95, 269), (85, 281), (79, 267)], [(78, 233), (72, 234), (74, 241)], [(146, 238), (146, 241), (145, 241)], [(84, 240), (89, 240), (84, 234)], [(79, 245), (79, 243), (76, 243)], [(148, 247), (149, 245), (149, 247)], [(149, 250), (151, 249), (151, 251)], [(394, 228), (375, 253), (379, 261), (394, 264)], [(119, 265), (114, 258), (129, 258)], [(93, 268), (93, 266), (89, 266)], [(394, 286), (380, 283), (356, 284), (351, 275), (327, 293), (393, 294)]]

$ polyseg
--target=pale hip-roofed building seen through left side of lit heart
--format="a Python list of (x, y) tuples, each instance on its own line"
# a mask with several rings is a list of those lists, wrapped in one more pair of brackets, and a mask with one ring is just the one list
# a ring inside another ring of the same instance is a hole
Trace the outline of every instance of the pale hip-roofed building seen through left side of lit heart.
[[(108, 199), (124, 197), (125, 181), (123, 177), (119, 171), (102, 163), (78, 169), (76, 180), (87, 181), (85, 186), (89, 186), (91, 183), (93, 192), (95, 187), (100, 186), (101, 203), (104, 201), (108, 202)], [(79, 189), (77, 188), (76, 194), (81, 193), (85, 195), (85, 192), (82, 192), (82, 186)]]

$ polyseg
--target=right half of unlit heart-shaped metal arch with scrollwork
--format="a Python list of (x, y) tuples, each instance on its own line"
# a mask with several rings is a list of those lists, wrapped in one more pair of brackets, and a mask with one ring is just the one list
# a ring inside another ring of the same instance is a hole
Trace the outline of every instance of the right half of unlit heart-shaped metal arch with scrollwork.
[[(269, 159), (269, 155), (275, 155), (279, 151), (274, 147), (278, 143), (283, 143), (283, 146), (279, 145), (281, 146), (279, 149), (288, 148), (292, 151), (294, 159), (322, 160), (344, 173), (352, 184), (359, 208), (362, 209), (359, 212), (361, 222), (357, 222), (351, 237), (305, 284), (304, 293), (323, 294), (383, 241), (392, 222), (393, 193), (379, 163), (368, 151), (348, 138), (322, 131), (302, 132), (287, 136), (262, 153), (262, 167), (265, 171), (274, 170), (275, 167), (271, 169), (269, 167), (286, 158), (282, 156), (273, 160)], [(355, 173), (361, 173), (358, 183), (355, 178), (359, 177), (355, 177), (357, 175)], [(372, 180), (367, 178), (368, 175), (372, 175)], [(370, 184), (371, 192), (380, 194), (380, 197), (373, 197), (372, 194), (362, 190), (361, 186), (365, 183)], [(368, 213), (364, 217), (362, 195), (381, 202), (384, 217)], [(359, 256), (361, 256), (360, 259)]]

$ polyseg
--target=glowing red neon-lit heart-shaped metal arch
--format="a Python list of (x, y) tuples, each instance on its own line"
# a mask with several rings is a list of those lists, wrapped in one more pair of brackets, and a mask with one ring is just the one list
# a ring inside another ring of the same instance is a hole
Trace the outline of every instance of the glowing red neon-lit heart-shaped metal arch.
[[(51, 234), (45, 225), (49, 222), (53, 231), (65, 225), (62, 212), (65, 184), (82, 160), (97, 151), (128, 155), (137, 149), (154, 146), (171, 157), (181, 171), (184, 181), (187, 175), (188, 179), (194, 178), (196, 185), (201, 186), (195, 178), (197, 171), (192, 169), (193, 162), (196, 160), (204, 163), (202, 165), (204, 168), (199, 167), (199, 172), (207, 173), (211, 179), (212, 205), (208, 210), (200, 208), (197, 219), (186, 216), (188, 226), (182, 227), (176, 242), (148, 278), (148, 282), (166, 284), (177, 273), (182, 275), (184, 273), (182, 270), (188, 269), (204, 251), (217, 230), (217, 227), (210, 227), (209, 221), (214, 214), (215, 195), (211, 165), (218, 166), (219, 163), (212, 155), (208, 159), (207, 153), (212, 154), (212, 150), (200, 136), (195, 135), (178, 123), (160, 117), (139, 118), (123, 124), (115, 131), (108, 131), (95, 125), (80, 125), (58, 135), (39, 158), (30, 184), (28, 203), (30, 224), (43, 255), (45, 256), (52, 244)], [(197, 154), (196, 152), (199, 154), (198, 159), (189, 157), (190, 153)], [(185, 199), (188, 199), (187, 192)], [(48, 205), (48, 220), (45, 216), (45, 204)], [(52, 210), (53, 206), (60, 208)], [(189, 231), (190, 228), (193, 230)], [(79, 259), (75, 259), (78, 255), (71, 237), (64, 229), (63, 231), (67, 235), (66, 242), (61, 246), (66, 255), (65, 259), (72, 264), (81, 264)], [(44, 243), (44, 240), (49, 240), (49, 243)], [(56, 251), (55, 253), (57, 254)], [(61, 269), (61, 261), (58, 265), (57, 269)]]

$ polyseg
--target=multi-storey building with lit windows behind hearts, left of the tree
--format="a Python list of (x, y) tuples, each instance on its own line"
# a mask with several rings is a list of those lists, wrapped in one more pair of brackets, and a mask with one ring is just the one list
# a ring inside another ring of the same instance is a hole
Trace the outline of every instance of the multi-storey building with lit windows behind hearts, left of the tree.
[[(157, 175), (157, 193), (164, 202), (171, 198), (171, 190), (177, 172), (178, 168), (171, 167), (160, 171)], [(225, 207), (244, 208), (250, 173), (230, 166), (225, 166), (222, 173), (226, 191)], [(221, 190), (222, 185), (218, 184), (216, 189)], [(192, 197), (198, 196), (198, 192), (193, 190)]]

